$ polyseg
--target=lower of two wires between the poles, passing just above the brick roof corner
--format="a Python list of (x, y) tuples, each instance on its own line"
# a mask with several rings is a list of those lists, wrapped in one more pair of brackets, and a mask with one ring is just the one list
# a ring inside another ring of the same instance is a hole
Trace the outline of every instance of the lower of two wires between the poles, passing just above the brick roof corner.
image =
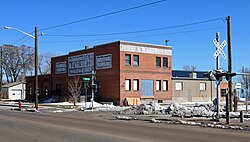
[[(141, 36), (130, 36), (130, 37), (122, 37), (122, 38), (152, 37), (152, 36), (161, 36), (161, 35), (170, 35), (170, 34), (183, 34), (183, 33), (200, 32), (200, 31), (213, 30), (213, 29), (222, 29), (222, 28), (225, 28), (225, 27), (214, 27), (214, 28), (206, 28), (206, 29), (188, 30), (188, 31), (180, 31), (180, 32), (172, 32), (172, 33), (151, 34), (151, 35), (141, 35)], [(51, 41), (51, 42), (39, 42), (39, 43), (71, 43), (71, 42), (86, 42), (86, 41), (98, 41), (98, 40), (114, 40), (117, 38), (100, 38), (100, 39), (92, 39), (92, 40), (72, 40), (72, 41)]]

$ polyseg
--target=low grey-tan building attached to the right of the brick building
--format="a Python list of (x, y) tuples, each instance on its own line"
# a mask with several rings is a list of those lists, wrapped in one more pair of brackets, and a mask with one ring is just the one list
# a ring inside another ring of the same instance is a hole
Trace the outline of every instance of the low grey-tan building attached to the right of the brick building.
[(173, 70), (172, 100), (180, 103), (208, 102), (216, 98), (215, 81), (209, 81), (203, 73), (206, 71)]

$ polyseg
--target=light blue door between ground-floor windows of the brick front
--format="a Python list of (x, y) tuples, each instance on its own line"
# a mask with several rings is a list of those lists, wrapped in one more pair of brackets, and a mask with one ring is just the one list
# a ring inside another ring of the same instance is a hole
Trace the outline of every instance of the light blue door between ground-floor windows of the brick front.
[(142, 96), (154, 96), (154, 80), (142, 80)]

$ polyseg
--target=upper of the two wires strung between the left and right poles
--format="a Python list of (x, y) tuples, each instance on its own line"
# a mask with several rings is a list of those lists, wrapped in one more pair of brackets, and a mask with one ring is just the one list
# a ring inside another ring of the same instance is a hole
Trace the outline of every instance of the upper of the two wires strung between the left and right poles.
[(182, 24), (182, 25), (177, 25), (177, 26), (162, 27), (162, 28), (155, 28), (155, 29), (146, 29), (146, 30), (139, 30), (139, 31), (129, 31), (129, 32), (85, 34), (85, 35), (44, 35), (44, 36), (79, 37), (79, 36), (112, 36), (112, 35), (135, 34), (135, 33), (153, 32), (153, 31), (159, 31), (159, 30), (165, 30), (165, 29), (187, 27), (187, 26), (192, 26), (192, 25), (197, 25), (197, 24), (202, 24), (202, 23), (218, 21), (218, 20), (222, 20), (222, 19), (223, 18), (216, 18), (216, 19), (210, 19), (210, 20), (206, 20), (206, 21), (194, 22), (194, 23), (189, 23), (189, 24)]

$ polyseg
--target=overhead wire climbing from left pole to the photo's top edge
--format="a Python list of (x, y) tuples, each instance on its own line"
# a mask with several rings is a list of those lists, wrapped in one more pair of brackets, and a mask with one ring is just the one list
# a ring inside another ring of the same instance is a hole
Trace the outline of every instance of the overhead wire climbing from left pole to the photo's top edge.
[(68, 22), (68, 23), (65, 23), (65, 24), (60, 24), (60, 25), (44, 28), (44, 29), (41, 29), (40, 31), (55, 29), (55, 28), (59, 28), (59, 27), (67, 26), (67, 25), (72, 25), (72, 24), (76, 24), (76, 23), (80, 23), (80, 22), (84, 22), (84, 21), (89, 21), (89, 20), (93, 20), (93, 19), (97, 19), (97, 18), (101, 18), (101, 17), (105, 17), (105, 16), (125, 12), (125, 11), (130, 11), (130, 10), (134, 10), (134, 9), (138, 9), (138, 8), (142, 8), (142, 7), (146, 7), (146, 6), (150, 6), (150, 5), (154, 5), (154, 4), (165, 2), (165, 1), (167, 1), (167, 0), (159, 0), (159, 1), (151, 2), (151, 3), (147, 3), (147, 4), (135, 6), (135, 7), (126, 8), (126, 9), (123, 9), (123, 10), (118, 10), (118, 11), (114, 11), (114, 12), (110, 12), (110, 13), (106, 13), (106, 14), (101, 14), (101, 15), (94, 16), (94, 17), (89, 17), (89, 18), (82, 19), (82, 20), (77, 20), (77, 21)]

